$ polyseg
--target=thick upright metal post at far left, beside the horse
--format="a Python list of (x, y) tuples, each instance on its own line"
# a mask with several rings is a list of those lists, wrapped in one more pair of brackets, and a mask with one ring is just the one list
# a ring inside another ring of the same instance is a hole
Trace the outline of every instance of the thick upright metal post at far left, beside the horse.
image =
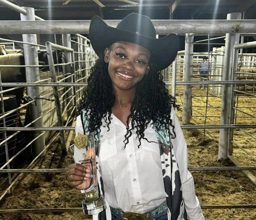
[[(35, 20), (35, 11), (34, 8), (22, 7), (28, 13), (26, 15), (20, 14), (20, 20)], [(37, 35), (36, 34), (22, 34), (22, 38), (24, 42), (29, 42), (33, 44), (37, 44)], [(39, 65), (38, 62), (38, 47), (28, 44), (23, 44), (24, 47), (24, 57), (26, 65)], [(39, 76), (39, 68), (38, 67), (26, 67), (26, 82), (36, 82), (40, 80)], [(41, 91), (39, 86), (29, 86), (27, 87), (27, 95), (28, 98), (33, 100), (41, 96)], [(29, 120), (34, 121), (39, 118), (36, 122), (33, 123), (34, 127), (43, 127), (43, 106), (42, 100), (37, 99), (36, 102), (33, 102), (29, 105)], [(33, 131), (32, 139), (36, 138), (43, 131)], [(43, 148), (45, 148), (45, 135), (41, 135), (40, 138), (35, 140), (32, 144), (33, 153), (37, 156)], [(45, 156), (45, 152), (41, 154), (41, 156)]]

